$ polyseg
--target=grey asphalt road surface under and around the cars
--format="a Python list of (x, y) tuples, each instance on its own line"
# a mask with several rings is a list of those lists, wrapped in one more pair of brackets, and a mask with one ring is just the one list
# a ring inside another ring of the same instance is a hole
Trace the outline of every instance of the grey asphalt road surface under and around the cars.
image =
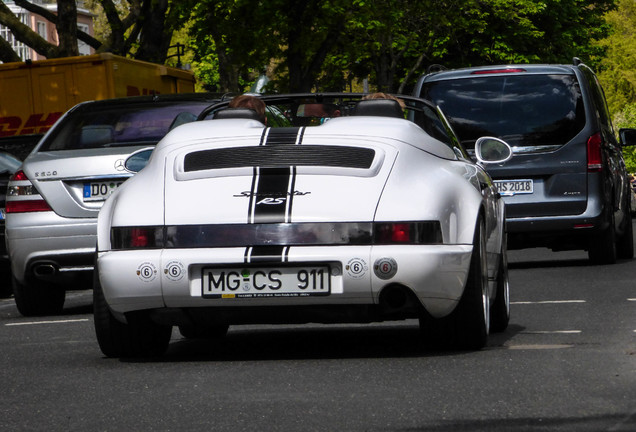
[(416, 322), (173, 333), (164, 357), (101, 355), (91, 293), (62, 315), (0, 301), (0, 431), (636, 431), (636, 260), (512, 251), (512, 319), (478, 352)]

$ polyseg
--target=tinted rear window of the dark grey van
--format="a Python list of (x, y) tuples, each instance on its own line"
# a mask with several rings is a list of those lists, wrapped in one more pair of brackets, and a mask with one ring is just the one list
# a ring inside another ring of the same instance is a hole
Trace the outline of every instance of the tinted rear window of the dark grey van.
[(482, 136), (513, 146), (563, 145), (583, 129), (581, 89), (574, 75), (479, 76), (425, 83), (467, 149)]

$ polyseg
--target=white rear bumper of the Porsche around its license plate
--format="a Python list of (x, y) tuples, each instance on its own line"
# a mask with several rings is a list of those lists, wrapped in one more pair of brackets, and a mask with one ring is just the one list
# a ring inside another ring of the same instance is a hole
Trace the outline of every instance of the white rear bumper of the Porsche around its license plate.
[[(432, 316), (441, 317), (455, 308), (463, 293), (471, 253), (471, 245), (291, 247), (288, 263), (329, 263), (332, 269), (330, 295), (313, 297), (203, 298), (202, 268), (215, 263), (240, 269), (246, 266), (245, 248), (99, 252), (98, 268), (113, 312), (121, 316), (153, 310), (164, 319), (172, 314), (173, 324), (179, 323), (177, 317), (185, 311), (194, 310), (216, 314), (218, 319), (225, 315), (223, 321), (233, 324), (251, 323), (256, 316), (260, 316), (257, 321), (273, 322), (283, 319), (275, 315), (284, 308), (295, 309), (296, 316), (310, 322), (312, 310), (324, 311), (323, 315), (332, 311), (334, 317), (337, 311), (370, 310), (379, 304), (387, 287), (404, 289), (416, 299), (418, 308), (423, 306)], [(391, 258), (397, 265), (390, 278), (380, 278), (374, 270), (374, 263), (382, 258)], [(363, 269), (350, 271), (352, 262), (361, 263)], [(275, 268), (281, 263), (263, 265)], [(170, 271), (175, 267), (180, 271)], [(307, 313), (298, 314), (303, 308)], [(256, 310), (260, 315), (253, 312)], [(351, 316), (349, 312), (347, 316)]]

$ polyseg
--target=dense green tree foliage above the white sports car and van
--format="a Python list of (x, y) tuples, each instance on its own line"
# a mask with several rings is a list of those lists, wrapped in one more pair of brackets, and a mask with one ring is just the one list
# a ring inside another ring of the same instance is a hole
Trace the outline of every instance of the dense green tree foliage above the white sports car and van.
[[(208, 12), (194, 15), (193, 48), (201, 60), (214, 52), (218, 88), (235, 91), (241, 73), (270, 64), (281, 91), (339, 90), (352, 79), (368, 78), (379, 90), (404, 92), (436, 63), (569, 63), (578, 56), (594, 66), (603, 47), (592, 41), (606, 32), (603, 17), (614, 0), (204, 0), (199, 5)], [(228, 71), (234, 72), (228, 76)]]

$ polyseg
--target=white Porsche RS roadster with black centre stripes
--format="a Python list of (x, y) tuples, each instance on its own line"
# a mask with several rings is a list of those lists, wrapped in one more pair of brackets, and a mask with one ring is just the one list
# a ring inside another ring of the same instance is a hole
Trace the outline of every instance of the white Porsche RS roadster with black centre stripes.
[(221, 104), (170, 132), (99, 214), (102, 352), (160, 355), (173, 326), (419, 318), (462, 349), (503, 331), (504, 206), (481, 164), (510, 147), (477, 140), (477, 164), (427, 101), (359, 98), (263, 97), (285, 127)]

